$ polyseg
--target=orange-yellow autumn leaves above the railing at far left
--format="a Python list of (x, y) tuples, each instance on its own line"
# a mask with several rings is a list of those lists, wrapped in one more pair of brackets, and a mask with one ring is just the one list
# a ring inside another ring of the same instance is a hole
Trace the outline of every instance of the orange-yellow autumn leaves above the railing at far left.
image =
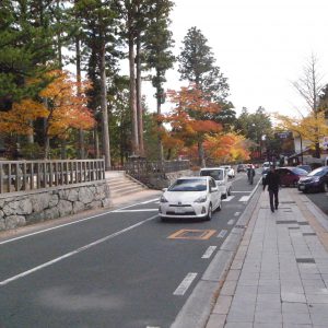
[[(0, 131), (17, 134), (33, 133), (32, 122), (38, 118), (47, 121), (48, 136), (63, 136), (69, 128), (90, 129), (94, 126), (86, 108), (86, 83), (80, 85), (67, 72), (51, 71), (44, 78), (47, 86), (39, 92), (38, 99), (14, 103), (11, 110), (0, 113)], [(26, 83), (35, 83), (33, 79)], [(79, 91), (79, 92), (78, 92)]]

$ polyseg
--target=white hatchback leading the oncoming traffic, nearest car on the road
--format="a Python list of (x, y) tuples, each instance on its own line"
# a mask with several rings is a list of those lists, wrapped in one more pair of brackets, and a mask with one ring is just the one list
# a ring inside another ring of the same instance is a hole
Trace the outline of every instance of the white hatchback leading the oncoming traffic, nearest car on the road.
[(159, 215), (168, 218), (211, 220), (215, 210), (221, 210), (221, 192), (213, 178), (180, 177), (160, 199)]

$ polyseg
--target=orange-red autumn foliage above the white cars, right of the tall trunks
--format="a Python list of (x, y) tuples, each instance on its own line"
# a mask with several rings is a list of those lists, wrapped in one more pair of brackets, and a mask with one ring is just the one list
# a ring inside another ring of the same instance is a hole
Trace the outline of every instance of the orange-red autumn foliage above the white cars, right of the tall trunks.
[(212, 120), (212, 114), (221, 110), (195, 85), (169, 91), (175, 107), (164, 118), (171, 125), (171, 131), (162, 136), (166, 148), (175, 148), (179, 154), (198, 159), (200, 165), (207, 159), (212, 162), (234, 162), (249, 159), (245, 138), (234, 133), (224, 133), (220, 124)]

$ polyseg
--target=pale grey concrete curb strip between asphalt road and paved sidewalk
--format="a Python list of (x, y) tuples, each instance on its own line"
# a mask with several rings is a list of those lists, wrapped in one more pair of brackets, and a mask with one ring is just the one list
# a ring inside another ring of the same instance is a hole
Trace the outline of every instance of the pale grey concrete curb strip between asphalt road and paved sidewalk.
[(235, 227), (221, 245), (171, 328), (206, 327), (260, 195), (258, 183)]

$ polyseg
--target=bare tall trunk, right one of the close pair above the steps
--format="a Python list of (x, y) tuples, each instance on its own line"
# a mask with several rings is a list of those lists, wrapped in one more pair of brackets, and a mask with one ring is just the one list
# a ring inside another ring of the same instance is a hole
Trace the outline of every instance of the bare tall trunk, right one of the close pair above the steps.
[(142, 110), (142, 99), (141, 99), (141, 57), (140, 57), (140, 34), (137, 37), (137, 85), (136, 85), (136, 96), (137, 96), (137, 118), (138, 118), (138, 139), (139, 139), (139, 154), (144, 156), (144, 144), (143, 144), (143, 110)]

